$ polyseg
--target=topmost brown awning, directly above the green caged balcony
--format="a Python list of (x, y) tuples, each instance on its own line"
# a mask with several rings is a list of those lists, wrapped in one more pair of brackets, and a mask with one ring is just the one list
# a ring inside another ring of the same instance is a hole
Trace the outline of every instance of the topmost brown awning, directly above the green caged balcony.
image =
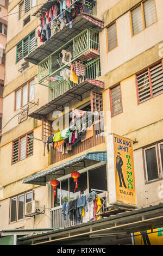
[(102, 29), (104, 27), (104, 21), (98, 20), (89, 14), (79, 14), (79, 16), (72, 22), (72, 28), (70, 28), (69, 25), (65, 26), (60, 32), (56, 33), (46, 41), (45, 44), (42, 44), (29, 53), (24, 59), (37, 65), (51, 53), (58, 50), (62, 45), (66, 44), (66, 42), (74, 38), (74, 36), (89, 27)]

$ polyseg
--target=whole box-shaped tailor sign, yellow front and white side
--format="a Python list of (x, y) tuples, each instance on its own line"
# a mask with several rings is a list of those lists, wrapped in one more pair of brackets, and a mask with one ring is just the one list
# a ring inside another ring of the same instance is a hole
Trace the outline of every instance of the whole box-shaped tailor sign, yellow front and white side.
[(109, 134), (107, 154), (109, 204), (136, 207), (133, 141)]

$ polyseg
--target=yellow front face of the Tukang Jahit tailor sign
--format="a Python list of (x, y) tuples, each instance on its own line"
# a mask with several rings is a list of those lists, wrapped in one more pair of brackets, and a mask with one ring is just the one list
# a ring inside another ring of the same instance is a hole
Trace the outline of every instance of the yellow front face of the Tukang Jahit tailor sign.
[(136, 206), (133, 141), (113, 135), (117, 203)]

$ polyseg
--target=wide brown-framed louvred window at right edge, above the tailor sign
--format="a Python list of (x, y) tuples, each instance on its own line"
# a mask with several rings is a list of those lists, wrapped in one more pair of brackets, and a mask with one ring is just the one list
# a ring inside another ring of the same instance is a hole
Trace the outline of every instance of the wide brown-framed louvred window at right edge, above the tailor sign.
[(136, 75), (138, 103), (163, 93), (162, 62), (149, 66)]

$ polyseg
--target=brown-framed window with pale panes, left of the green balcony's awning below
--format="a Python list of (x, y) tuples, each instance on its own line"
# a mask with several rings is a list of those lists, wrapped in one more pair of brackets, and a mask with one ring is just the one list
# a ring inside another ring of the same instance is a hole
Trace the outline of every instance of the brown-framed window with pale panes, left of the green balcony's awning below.
[(15, 92), (15, 110), (26, 105), (29, 101), (34, 100), (34, 83), (35, 80), (28, 82), (25, 86)]

